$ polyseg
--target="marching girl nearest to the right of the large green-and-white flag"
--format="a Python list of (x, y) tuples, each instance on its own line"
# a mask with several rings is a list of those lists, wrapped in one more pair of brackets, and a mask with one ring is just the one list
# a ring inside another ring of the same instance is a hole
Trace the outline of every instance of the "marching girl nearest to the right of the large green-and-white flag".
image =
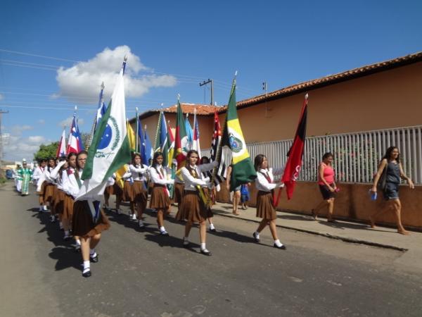
[(132, 174), (132, 196), (130, 197), (130, 210), (132, 214), (136, 213), (138, 216), (139, 228), (143, 228), (142, 214), (146, 209), (147, 192), (145, 187), (146, 173), (148, 173), (148, 166), (141, 164), (141, 154), (134, 153), (132, 155), (132, 164), (129, 165), (129, 172)]

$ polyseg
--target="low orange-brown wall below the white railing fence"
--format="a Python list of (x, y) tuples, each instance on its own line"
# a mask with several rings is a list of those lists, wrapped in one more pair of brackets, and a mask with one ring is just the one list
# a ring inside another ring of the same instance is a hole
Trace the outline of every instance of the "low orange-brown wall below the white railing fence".
[[(217, 193), (217, 200), (229, 202), (229, 192), (222, 186)], [(368, 184), (343, 184), (338, 183), (340, 192), (335, 199), (335, 218), (367, 221), (369, 216), (378, 209), (385, 212), (377, 219), (377, 223), (395, 226), (395, 216), (388, 210), (387, 203), (383, 200), (382, 194), (378, 192), (378, 199), (372, 201), (369, 197)], [(277, 189), (278, 191), (278, 189)], [(400, 201), (402, 202), (402, 223), (408, 228), (422, 230), (422, 186), (410, 189), (407, 185), (401, 185), (399, 189)], [(249, 206), (255, 206), (257, 192), (255, 185), (250, 187)], [(316, 182), (298, 182), (295, 193), (290, 201), (286, 198), (286, 192), (282, 192), (277, 209), (293, 213), (305, 213), (310, 215), (313, 209), (322, 200), (319, 187)], [(321, 216), (326, 215), (326, 209), (321, 209)]]

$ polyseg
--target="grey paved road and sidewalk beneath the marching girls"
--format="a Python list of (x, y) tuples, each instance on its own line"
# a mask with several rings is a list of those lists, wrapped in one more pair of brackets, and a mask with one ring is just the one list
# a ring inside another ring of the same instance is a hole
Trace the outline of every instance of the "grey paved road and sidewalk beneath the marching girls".
[(0, 189), (1, 316), (421, 316), (422, 276), (395, 265), (400, 251), (279, 230), (281, 251), (268, 230), (255, 244), (255, 223), (222, 216), (207, 257), (196, 228), (186, 250), (172, 219), (160, 237), (153, 213), (145, 230), (109, 213), (84, 279), (79, 254), (36, 205), (10, 183)]

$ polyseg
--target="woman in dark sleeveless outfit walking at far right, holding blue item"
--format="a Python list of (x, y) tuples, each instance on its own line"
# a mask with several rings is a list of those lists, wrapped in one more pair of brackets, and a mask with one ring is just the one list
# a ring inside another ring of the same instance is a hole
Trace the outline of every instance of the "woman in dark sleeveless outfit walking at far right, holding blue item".
[[(385, 188), (383, 189), (383, 196), (384, 199), (388, 204), (388, 209), (392, 209), (395, 213), (396, 221), (397, 221), (397, 232), (402, 235), (409, 235), (409, 231), (405, 230), (402, 225), (402, 204), (399, 199), (399, 185), (400, 185), (400, 178), (407, 180), (409, 187), (411, 189), (415, 188), (414, 183), (411, 181), (410, 178), (403, 172), (402, 163), (400, 162), (400, 152), (397, 147), (389, 147), (383, 156), (383, 159), (378, 166), (378, 171), (373, 179), (373, 186), (371, 192), (376, 193), (378, 181), (381, 178), (381, 175), (384, 173), (385, 170)], [(383, 209), (379, 209), (369, 217), (369, 223), (372, 228), (375, 227), (375, 220), (376, 218), (383, 212)]]

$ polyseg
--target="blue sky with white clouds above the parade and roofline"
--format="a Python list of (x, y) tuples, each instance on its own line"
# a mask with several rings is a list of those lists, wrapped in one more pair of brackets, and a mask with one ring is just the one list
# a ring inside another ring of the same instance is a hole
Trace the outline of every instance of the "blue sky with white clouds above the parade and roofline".
[(133, 117), (136, 106), (170, 106), (177, 94), (208, 104), (209, 88), (198, 85), (207, 78), (224, 105), (235, 70), (241, 100), (261, 94), (264, 81), (273, 91), (421, 51), (421, 13), (416, 0), (3, 0), (4, 159), (32, 159), (41, 142), (58, 140), (75, 105), (79, 128), (89, 132), (101, 80), (110, 94), (124, 51)]

